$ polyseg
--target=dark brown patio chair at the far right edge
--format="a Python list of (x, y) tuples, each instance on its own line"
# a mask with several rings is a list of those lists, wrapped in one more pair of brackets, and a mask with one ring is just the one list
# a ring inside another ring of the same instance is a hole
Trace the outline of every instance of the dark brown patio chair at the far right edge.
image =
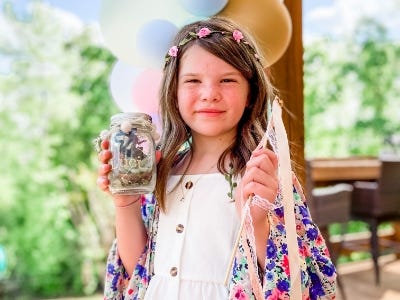
[[(368, 224), (371, 232), (370, 252), (374, 263), (375, 283), (379, 285), (379, 263), (382, 242), (378, 225), (400, 219), (400, 159), (381, 160), (380, 177), (376, 182), (354, 183), (351, 217)], [(386, 249), (400, 252), (400, 243), (386, 240)]]

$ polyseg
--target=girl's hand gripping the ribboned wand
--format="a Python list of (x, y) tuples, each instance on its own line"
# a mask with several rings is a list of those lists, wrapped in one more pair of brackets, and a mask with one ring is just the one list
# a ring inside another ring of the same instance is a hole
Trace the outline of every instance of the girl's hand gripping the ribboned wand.
[[(276, 154), (265, 148), (253, 151), (246, 164), (246, 171), (240, 181), (236, 203), (241, 211), (249, 197), (254, 195), (273, 203), (278, 194), (278, 158)], [(267, 211), (257, 205), (251, 206), (253, 222), (264, 222)]]

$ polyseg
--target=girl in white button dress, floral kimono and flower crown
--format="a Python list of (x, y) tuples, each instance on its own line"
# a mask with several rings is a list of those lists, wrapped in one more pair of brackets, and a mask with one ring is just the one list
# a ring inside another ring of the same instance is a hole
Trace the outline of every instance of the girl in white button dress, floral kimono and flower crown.
[[(117, 239), (105, 299), (254, 299), (254, 275), (263, 298), (287, 299), (278, 159), (257, 147), (274, 97), (260, 52), (249, 34), (219, 17), (184, 26), (174, 45), (160, 93), (156, 188), (151, 195), (113, 195)], [(99, 155), (104, 191), (108, 145), (102, 142)], [(334, 299), (335, 268), (296, 180), (293, 193), (302, 298)], [(235, 247), (249, 197), (254, 240)]]

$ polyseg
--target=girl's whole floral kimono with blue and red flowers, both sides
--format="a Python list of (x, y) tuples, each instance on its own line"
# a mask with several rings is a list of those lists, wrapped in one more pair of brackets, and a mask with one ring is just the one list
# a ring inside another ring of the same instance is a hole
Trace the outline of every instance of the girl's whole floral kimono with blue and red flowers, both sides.
[[(325, 241), (310, 217), (297, 179), (293, 183), (298, 250), (300, 254), (302, 299), (335, 299), (336, 270)], [(279, 195), (278, 195), (279, 198)], [(159, 208), (153, 195), (142, 197), (142, 217), (148, 241), (133, 274), (127, 274), (115, 241), (107, 261), (104, 299), (144, 299), (154, 274), (154, 254)], [(270, 236), (262, 272), (264, 299), (290, 299), (290, 272), (283, 208), (270, 211)], [(244, 241), (248, 243), (248, 241)], [(254, 251), (251, 251), (254, 253)], [(253, 257), (254, 258), (254, 257)], [(227, 289), (230, 299), (256, 299), (252, 291), (249, 264), (243, 240), (236, 250)], [(132, 275), (132, 276), (130, 276)], [(295, 299), (297, 300), (297, 299)]]

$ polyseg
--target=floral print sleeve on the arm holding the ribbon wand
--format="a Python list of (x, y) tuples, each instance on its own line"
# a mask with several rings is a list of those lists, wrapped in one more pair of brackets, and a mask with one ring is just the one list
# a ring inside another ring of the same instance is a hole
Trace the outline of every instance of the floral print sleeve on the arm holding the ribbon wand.
[[(318, 227), (310, 217), (301, 186), (296, 178), (294, 178), (293, 193), (301, 259), (302, 299), (335, 299), (335, 266)], [(261, 275), (264, 299), (289, 299), (290, 272), (283, 207), (271, 211), (269, 220), (270, 236), (266, 245), (264, 275)], [(236, 253), (229, 290), (229, 299), (255, 299), (251, 292), (248, 261), (242, 245)]]

